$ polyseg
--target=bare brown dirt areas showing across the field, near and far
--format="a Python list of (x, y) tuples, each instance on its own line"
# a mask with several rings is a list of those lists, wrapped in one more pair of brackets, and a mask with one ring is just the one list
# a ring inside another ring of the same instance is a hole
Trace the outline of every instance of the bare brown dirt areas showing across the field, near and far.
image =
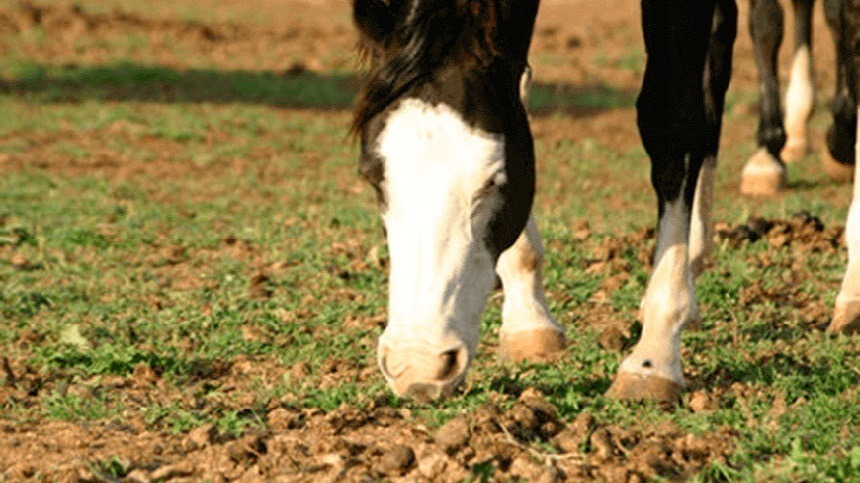
[[(205, 8), (208, 3), (217, 4), (220, 12), (228, 10), (230, 4), (245, 8), (248, 2), (206, 0), (197, 5)], [(297, 72), (323, 73), (348, 70), (355, 65), (355, 37), (342, 3), (339, 0), (302, 0), (291, 2), (289, 9), (284, 9), (282, 2), (259, 0), (253, 2), (253, 8), (263, 12), (260, 15), (263, 20), (259, 22), (220, 19), (217, 12), (206, 21), (172, 18), (162, 13), (159, 2), (155, 2), (150, 11), (116, 8), (110, 4), (94, 9), (86, 2), (77, 7), (64, 2), (6, 3), (0, 4), (0, 37), (14, 38), (22, 32), (40, 29), (52, 40), (18, 53), (45, 63), (98, 64), (113, 54), (100, 42), (92, 42), (83, 49), (74, 47), (81, 45), (80, 39), (110, 39), (133, 32), (147, 38), (148, 47), (146, 51), (130, 51), (128, 55), (152, 64), (179, 69), (197, 67), (189, 65), (187, 60), (187, 52), (192, 52), (200, 63), (225, 70), (269, 70), (285, 76)], [(641, 50), (616, 47), (639, 45), (637, 2), (544, 0), (543, 3), (533, 44), (533, 56), (541, 59), (537, 82), (561, 91), (607, 84), (627, 95), (635, 95), (640, 73), (635, 69), (601, 68), (597, 64), (624, 63), (641, 54)], [(745, 4), (741, 2), (740, 5), (742, 14)], [(824, 31), (822, 16), (818, 13), (816, 28)], [(790, 31), (790, 19), (788, 23)], [(745, 25), (744, 14), (733, 82), (751, 88), (756, 74)], [(832, 45), (824, 36), (816, 38), (816, 52), (821, 54), (816, 61), (829, 65), (833, 58)], [(787, 42), (790, 42), (788, 38)], [(184, 56), (175, 55), (174, 48), (167, 48), (177, 45), (186, 52)], [(605, 61), (595, 63), (596, 57)], [(787, 54), (783, 59), (785, 69)], [(830, 71), (820, 69), (818, 72), (818, 85), (832, 82)], [(15, 92), (14, 85), (7, 89)], [(308, 115), (315, 113), (311, 111)], [(344, 112), (326, 115), (339, 120), (347, 116)], [(538, 139), (548, 143), (575, 132), (577, 136), (595, 138), (607, 145), (632, 147), (639, 142), (633, 116), (633, 110), (625, 108), (594, 112), (587, 117), (540, 117), (535, 120), (534, 130)], [(122, 136), (128, 129), (134, 126), (116, 126), (112, 132), (102, 135)], [(34, 146), (45, 144), (36, 139), (39, 135), (33, 134)], [(746, 127), (728, 127), (725, 132), (729, 143), (747, 140), (750, 136)], [(102, 141), (98, 137), (92, 139), (94, 145)], [(141, 141), (129, 137), (128, 142)], [(168, 142), (164, 146), (149, 147), (164, 152), (174, 149)], [(263, 152), (255, 154), (265, 155)], [(50, 159), (49, 164), (40, 168), (69, 175), (95, 170), (108, 179), (141, 176), (158, 179), (175, 175), (177, 169), (175, 163), (160, 164), (158, 160), (136, 164), (98, 157), (86, 161), (57, 156)], [(0, 157), (2, 171), (19, 169), (22, 163), (18, 158)], [(238, 168), (225, 166), (223, 169)], [(205, 173), (201, 170), (200, 175)], [(753, 226), (719, 226), (717, 233), (730, 243), (761, 238), (762, 243), (793, 243), (800, 250), (840, 250), (839, 227), (822, 227), (815, 220), (803, 217)], [(642, 253), (643, 263), (647, 263), (653, 232), (631, 235), (619, 240), (619, 244), (636, 247)], [(612, 247), (606, 250), (605, 260), (589, 269), (609, 273), (611, 268), (611, 273), (619, 273), (620, 265), (613, 265)], [(777, 262), (753, 260), (751, 263)], [(623, 272), (624, 267), (620, 268)], [(805, 276), (803, 267), (791, 265), (786, 266), (786, 273), (788, 277)], [(617, 283), (617, 276), (608, 278), (606, 288)], [(761, 286), (748, 287), (746, 291), (751, 300), (779, 296)], [(806, 311), (813, 325), (827, 323), (829, 310), (820, 301), (800, 303), (795, 300), (794, 303), (802, 305), (799, 309)], [(602, 343), (620, 350), (624, 334), (614, 330), (607, 329)], [(337, 366), (336, 361), (332, 366), (330, 384), (345, 378), (378, 377), (374, 367), (352, 370)], [(112, 391), (121, 393), (129, 407), (143, 407), (153, 401), (174, 402), (177, 397), (186, 397), (171, 393), (162, 384), (160, 375), (146, 365), (139, 366), (128, 377), (99, 377), (71, 385), (64, 381), (42, 380), (38, 369), (28, 367), (23, 361), (6, 360), (2, 370), (9, 383), (0, 387), (0, 399), (18, 404), (38, 399), (48, 390), (81, 394)], [(266, 361), (234, 360), (225, 362), (223, 367), (207, 368), (197, 380), (189, 382), (185, 394), (193, 394), (194, 387), (204, 384), (231, 387), (239, 394), (251, 375), (265, 384), (276, 385), (291, 374), (301, 377), (306, 370), (300, 366), (284, 369)], [(739, 390), (729, 386), (722, 391)], [(129, 417), (121, 425), (0, 421), (0, 481), (28, 478), (108, 481), (111, 469), (94, 467), (91, 462), (114, 458), (112, 464), (117, 465), (121, 473), (127, 473), (127, 481), (135, 482), (461, 481), (476, 467), (492, 469), (501, 479), (635, 482), (658, 476), (684, 479), (705, 465), (724, 461), (733, 449), (733, 430), (728, 426), (694, 435), (672, 424), (659, 428), (599, 424), (588, 413), (565, 423), (538, 391), (517, 390), (509, 397), (515, 401), (510, 409), (503, 411), (499, 404), (490, 402), (437, 429), (416, 424), (408, 409), (390, 407), (384, 394), (367, 396), (367, 410), (352, 406), (334, 411), (293, 410), (274, 405), (266, 408), (265, 430), (251, 431), (239, 438), (219, 436), (211, 425), (187, 435), (170, 435), (150, 429), (140, 416)], [(707, 410), (717, 404), (720, 397), (720, 390), (706, 392), (693, 387), (685, 404), (695, 410)], [(241, 404), (237, 408), (241, 408)], [(524, 443), (535, 439), (549, 441), (553, 448), (541, 450)], [(591, 449), (587, 457), (580, 453), (584, 447)]]

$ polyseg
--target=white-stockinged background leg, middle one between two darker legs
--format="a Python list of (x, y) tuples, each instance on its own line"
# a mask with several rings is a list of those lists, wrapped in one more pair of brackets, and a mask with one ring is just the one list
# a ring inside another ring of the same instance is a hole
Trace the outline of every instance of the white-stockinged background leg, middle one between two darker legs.
[(809, 149), (809, 118), (815, 108), (812, 68), (812, 7), (814, 0), (794, 0), (794, 57), (785, 93), (785, 132), (782, 149), (786, 162), (803, 158)]

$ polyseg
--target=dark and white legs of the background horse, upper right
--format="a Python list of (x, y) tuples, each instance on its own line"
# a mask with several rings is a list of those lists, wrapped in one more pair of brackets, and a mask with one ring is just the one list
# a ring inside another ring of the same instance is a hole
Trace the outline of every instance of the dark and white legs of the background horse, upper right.
[[(825, 0), (827, 26), (836, 47), (836, 88), (831, 104), (833, 121), (827, 132), (824, 171), (834, 179), (850, 180), (854, 166), (854, 125), (857, 120), (856, 76), (846, 28), (843, 0)], [(793, 0), (794, 50), (785, 95), (780, 105), (778, 51), (783, 35), (783, 10), (778, 0), (750, 0), (749, 30), (759, 74), (758, 149), (741, 174), (740, 190), (748, 195), (772, 195), (786, 185), (786, 163), (809, 151), (808, 124), (815, 105), (812, 56), (812, 10), (815, 0)]]

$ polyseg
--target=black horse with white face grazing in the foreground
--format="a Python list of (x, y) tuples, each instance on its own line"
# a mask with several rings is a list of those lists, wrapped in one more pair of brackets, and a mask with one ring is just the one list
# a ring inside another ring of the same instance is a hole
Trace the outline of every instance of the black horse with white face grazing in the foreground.
[[(505, 297), (500, 355), (542, 360), (564, 349), (541, 286), (543, 248), (531, 215), (535, 155), (523, 98), (538, 3), (353, 0), (370, 69), (352, 130), (390, 252), (377, 362), (398, 395), (436, 399), (456, 390), (475, 356), (495, 274)], [(642, 334), (608, 395), (676, 402), (685, 387), (680, 336), (698, 318), (694, 279), (711, 251), (737, 8), (734, 0), (643, 0), (642, 26), (637, 125), (658, 202), (657, 243)]]

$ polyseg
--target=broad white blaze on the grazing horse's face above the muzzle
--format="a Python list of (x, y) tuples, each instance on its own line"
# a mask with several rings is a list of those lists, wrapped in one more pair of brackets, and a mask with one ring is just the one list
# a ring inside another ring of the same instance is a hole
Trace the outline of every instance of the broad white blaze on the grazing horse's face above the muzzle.
[(444, 104), (407, 99), (388, 116), (377, 150), (391, 254), (381, 343), (443, 352), (462, 342), (474, 353), (494, 283), (486, 236), (506, 182), (504, 138)]

